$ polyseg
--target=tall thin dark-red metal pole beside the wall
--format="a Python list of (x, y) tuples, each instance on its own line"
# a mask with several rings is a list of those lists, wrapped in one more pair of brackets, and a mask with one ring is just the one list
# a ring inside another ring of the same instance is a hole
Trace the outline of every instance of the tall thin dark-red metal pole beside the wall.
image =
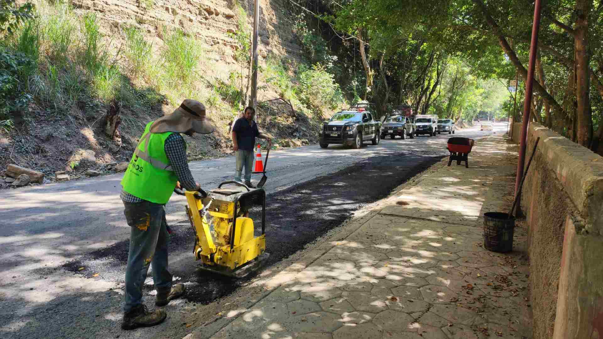
[(532, 24), (532, 42), (529, 48), (528, 78), (526, 79), (526, 94), (523, 101), (523, 124), (519, 143), (519, 161), (517, 162), (517, 177), (515, 179), (515, 194), (522, 182), (523, 165), (526, 158), (526, 139), (528, 138), (528, 123), (530, 114), (530, 103), (532, 102), (532, 87), (534, 85), (534, 65), (538, 51), (538, 29), (540, 28), (540, 2), (534, 4), (534, 23)]

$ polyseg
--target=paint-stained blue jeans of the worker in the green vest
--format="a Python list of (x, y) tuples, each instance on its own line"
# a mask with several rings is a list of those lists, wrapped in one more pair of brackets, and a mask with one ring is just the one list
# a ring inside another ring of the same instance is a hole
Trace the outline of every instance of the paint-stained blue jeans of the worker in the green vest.
[(172, 274), (168, 271), (169, 233), (163, 205), (150, 201), (124, 201), (124, 214), (130, 225), (124, 305), (124, 312), (128, 312), (142, 303), (142, 286), (147, 279), (149, 265), (153, 265), (153, 282), (157, 290), (172, 287)]

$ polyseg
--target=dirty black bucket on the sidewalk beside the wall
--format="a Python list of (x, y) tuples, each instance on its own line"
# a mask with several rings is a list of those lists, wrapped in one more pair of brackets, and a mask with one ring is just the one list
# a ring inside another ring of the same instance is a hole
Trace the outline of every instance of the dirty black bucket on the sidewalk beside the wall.
[(484, 213), (484, 249), (492, 252), (511, 252), (514, 228), (515, 218), (509, 218), (507, 213)]

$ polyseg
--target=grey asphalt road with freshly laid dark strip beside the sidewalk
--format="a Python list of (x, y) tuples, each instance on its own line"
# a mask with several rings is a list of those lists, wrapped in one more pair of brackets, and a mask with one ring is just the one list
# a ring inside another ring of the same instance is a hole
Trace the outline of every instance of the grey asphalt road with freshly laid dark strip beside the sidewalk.
[[(506, 128), (496, 123), (494, 131), (473, 127), (455, 136), (480, 138)], [(360, 150), (311, 145), (271, 152), (264, 187), (268, 267), (446, 156), (448, 138), (388, 138), (376, 146), (367, 142)], [(190, 166), (204, 188), (234, 175), (233, 157)], [(148, 338), (181, 338), (189, 332), (182, 314), (171, 314), (162, 328), (119, 329), (130, 232), (119, 200), (121, 177), (0, 191), (0, 337), (130, 338), (146, 331)], [(197, 270), (184, 205), (176, 195), (166, 205), (175, 230), (170, 270), (174, 279), (186, 283), (186, 302), (219, 300), (246, 280)], [(150, 292), (151, 279), (148, 284)], [(153, 297), (145, 302), (151, 304)]]

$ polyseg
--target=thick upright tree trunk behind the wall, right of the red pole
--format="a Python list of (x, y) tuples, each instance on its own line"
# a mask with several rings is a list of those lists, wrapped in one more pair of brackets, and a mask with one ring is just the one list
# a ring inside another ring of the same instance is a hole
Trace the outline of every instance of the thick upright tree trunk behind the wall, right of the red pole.
[(590, 146), (593, 138), (590, 112), (589, 14), (593, 0), (576, 0), (574, 52), (576, 54), (576, 142)]

